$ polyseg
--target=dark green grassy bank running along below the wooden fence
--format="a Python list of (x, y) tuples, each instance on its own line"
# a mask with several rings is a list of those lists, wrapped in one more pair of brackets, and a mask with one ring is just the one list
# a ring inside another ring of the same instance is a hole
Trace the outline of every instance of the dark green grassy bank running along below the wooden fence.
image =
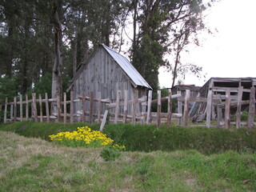
[[(15, 122), (1, 124), (0, 130), (8, 130), (26, 137), (49, 140), (48, 135), (61, 131), (73, 131), (84, 123), (36, 123)], [(90, 125), (98, 130), (99, 125)], [(256, 130), (219, 130), (205, 127), (177, 127), (156, 129), (152, 126), (132, 126), (129, 124), (107, 125), (104, 133), (129, 151), (154, 150), (198, 150), (202, 154), (217, 154), (227, 150), (238, 153), (256, 151)]]

